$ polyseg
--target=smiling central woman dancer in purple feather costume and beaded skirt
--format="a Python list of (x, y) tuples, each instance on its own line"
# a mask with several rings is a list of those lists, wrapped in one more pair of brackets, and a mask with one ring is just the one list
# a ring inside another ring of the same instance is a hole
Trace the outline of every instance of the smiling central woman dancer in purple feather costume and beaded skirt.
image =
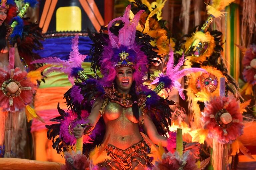
[[(202, 71), (179, 71), (184, 63), (183, 57), (177, 67), (173, 66), (172, 57), (168, 64), (169, 72), (158, 78), (156, 82), (159, 85), (156, 89), (151, 90), (143, 85), (150, 73), (149, 65), (160, 56), (149, 43), (153, 39), (136, 31), (143, 11), (138, 12), (131, 21), (129, 11), (130, 5), (123, 17), (108, 24), (108, 34), (89, 32), (93, 41), (90, 56), (95, 78), (88, 78), (89, 75), (81, 68), (80, 63), (85, 56), (78, 52), (78, 37), (73, 40), (73, 51), (68, 61), (52, 57), (37, 61), (53, 64), (60, 62), (62, 67), (53, 67), (50, 71), (62, 71), (68, 73), (69, 77), (76, 76), (83, 81), (75, 83), (64, 94), (71, 111), (65, 113), (58, 108), (61, 116), (52, 121), (60, 124), (46, 126), (49, 129), (48, 138), (53, 139), (53, 147), (58, 153), (69, 150), (68, 145), (72, 146), (77, 141), (76, 138), (80, 140), (83, 136), (83, 152), (89, 156), (96, 145), (104, 143), (104, 150), (110, 159), (96, 164), (106, 169), (133, 170), (150, 167), (151, 159), (147, 155), (150, 143), (160, 144), (169, 151), (174, 150), (175, 139), (171, 139), (172, 136), (167, 138), (171, 125), (169, 106), (174, 102), (161, 98), (157, 93), (163, 88), (179, 88), (175, 84), (176, 80), (186, 73)], [(97, 70), (101, 71), (102, 78), (96, 74)], [(199, 145), (195, 143), (184, 144), (184, 149), (191, 149), (196, 156), (198, 148)], [(66, 160), (66, 163), (73, 164), (70, 159)]]

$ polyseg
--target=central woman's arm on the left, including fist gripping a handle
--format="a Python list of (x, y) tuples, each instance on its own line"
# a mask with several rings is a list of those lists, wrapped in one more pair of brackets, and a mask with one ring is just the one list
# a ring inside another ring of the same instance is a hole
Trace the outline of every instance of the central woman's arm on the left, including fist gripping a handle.
[[(87, 118), (88, 123), (91, 123), (91, 125), (92, 125), (89, 128), (95, 127), (97, 122), (99, 121), (99, 119), (101, 117), (100, 109), (101, 109), (102, 103), (103, 103), (103, 99), (97, 99), (93, 103), (92, 111)], [(86, 130), (91, 130), (91, 129), (86, 129)], [(77, 124), (77, 126), (74, 127), (74, 129), (73, 129), (73, 133), (74, 133), (75, 138), (78, 139), (84, 135), (84, 128), (80, 124)]]

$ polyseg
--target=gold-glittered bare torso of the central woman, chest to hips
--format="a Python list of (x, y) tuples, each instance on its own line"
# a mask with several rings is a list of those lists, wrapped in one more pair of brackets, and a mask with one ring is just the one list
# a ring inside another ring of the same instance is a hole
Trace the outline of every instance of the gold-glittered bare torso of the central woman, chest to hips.
[(104, 141), (109, 136), (108, 144), (125, 150), (141, 141), (138, 121), (133, 116), (132, 108), (109, 103), (103, 119), (106, 124)]

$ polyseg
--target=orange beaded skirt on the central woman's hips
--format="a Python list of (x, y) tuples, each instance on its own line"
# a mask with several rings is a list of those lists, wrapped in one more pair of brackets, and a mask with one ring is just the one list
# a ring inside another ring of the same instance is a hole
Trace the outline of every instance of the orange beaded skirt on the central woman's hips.
[(112, 158), (101, 164), (102, 167), (107, 169), (134, 170), (138, 169), (139, 166), (146, 167), (151, 162), (147, 156), (148, 146), (143, 139), (125, 150), (110, 144), (107, 145), (105, 150)]

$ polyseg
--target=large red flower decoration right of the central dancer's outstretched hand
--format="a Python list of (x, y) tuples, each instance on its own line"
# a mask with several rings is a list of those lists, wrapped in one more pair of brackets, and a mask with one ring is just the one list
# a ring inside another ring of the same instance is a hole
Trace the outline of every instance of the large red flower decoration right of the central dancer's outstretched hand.
[(202, 119), (208, 136), (219, 143), (231, 143), (243, 133), (243, 117), (235, 98), (215, 97), (206, 105)]

